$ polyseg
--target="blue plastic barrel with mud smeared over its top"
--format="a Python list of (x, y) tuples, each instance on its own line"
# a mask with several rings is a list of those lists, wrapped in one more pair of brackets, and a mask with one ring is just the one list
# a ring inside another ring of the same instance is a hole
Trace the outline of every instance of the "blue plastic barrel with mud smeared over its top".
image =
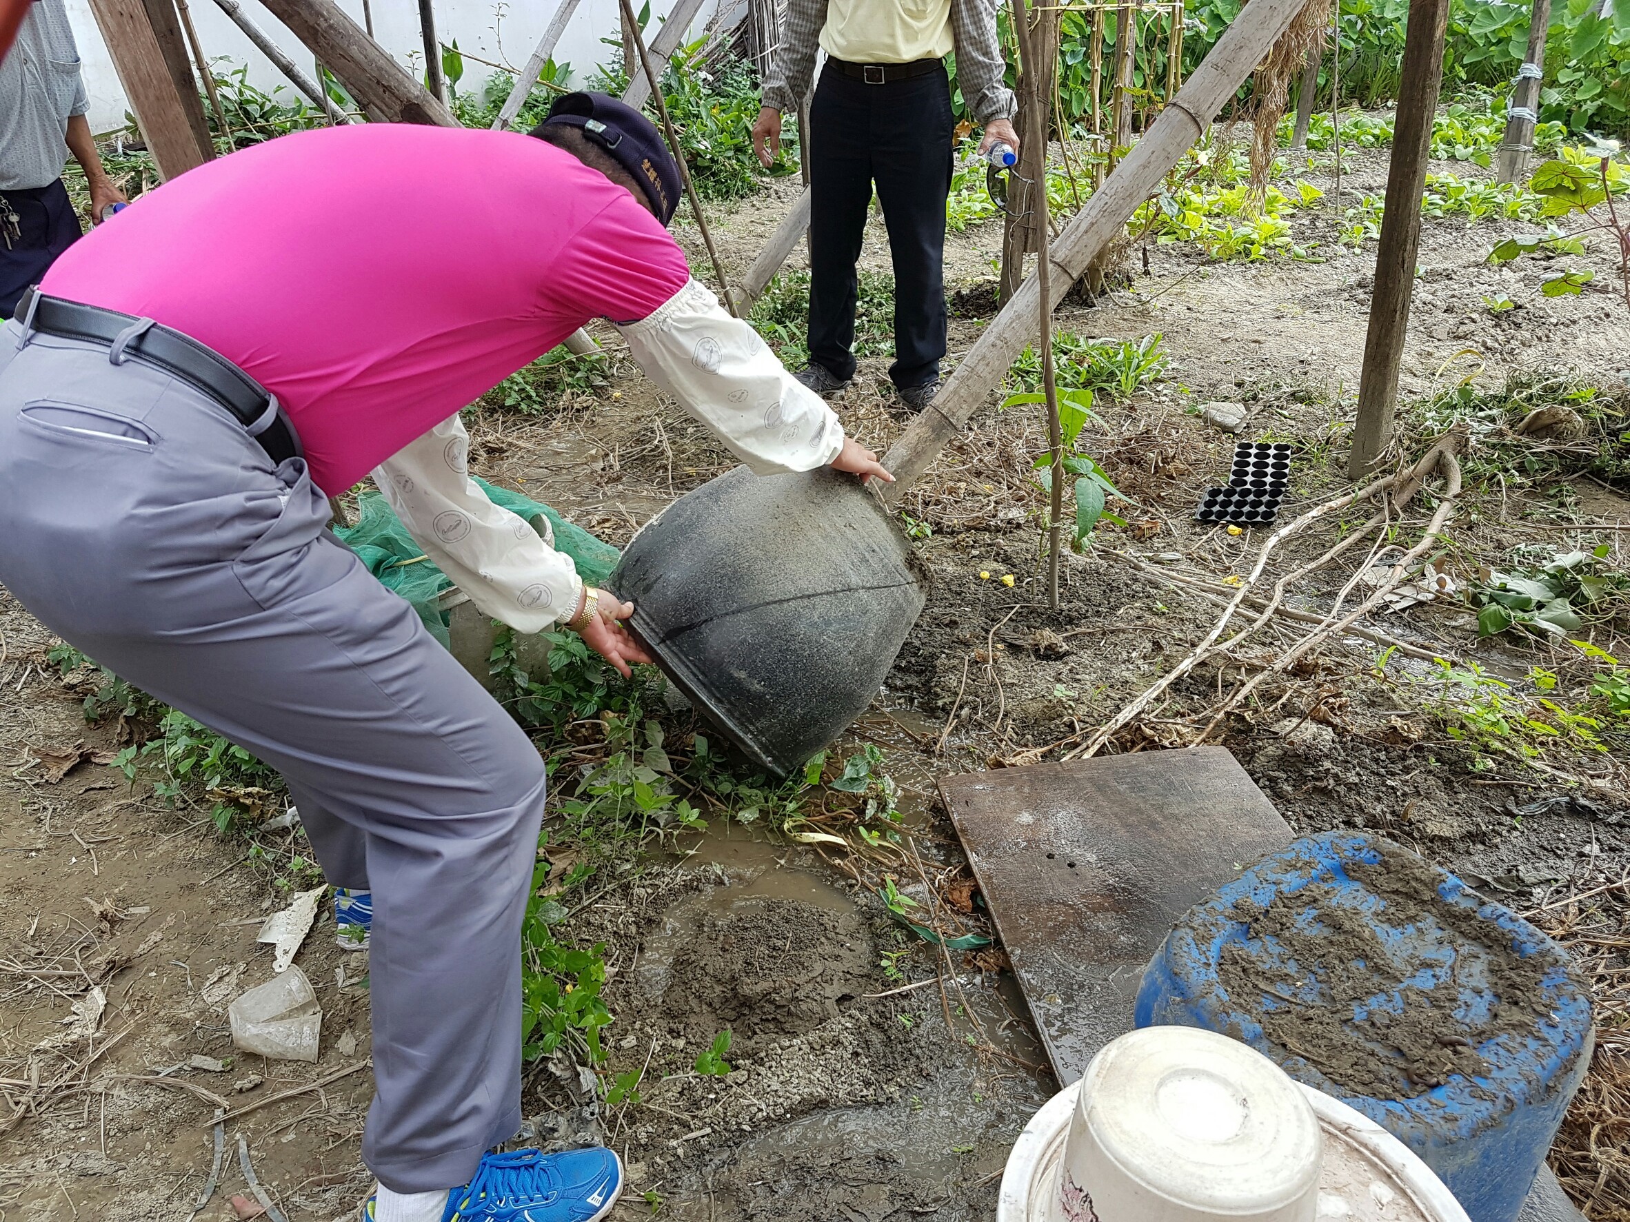
[[(1410, 878), (1415, 898), (1399, 898)], [(1500, 1009), (1501, 989), (1531, 1005)], [(1425, 1005), (1430, 1053), (1416, 1046)], [(1394, 1038), (1416, 1046), (1412, 1061), (1387, 1040), (1405, 1012), (1415, 1044), (1402, 1026)], [(1177, 924), (1138, 989), (1136, 1025), (1162, 1023), (1242, 1040), (1371, 1116), (1472, 1222), (1516, 1219), (1593, 1049), (1589, 992), (1562, 947), (1407, 849), (1337, 833), (1267, 857)]]

